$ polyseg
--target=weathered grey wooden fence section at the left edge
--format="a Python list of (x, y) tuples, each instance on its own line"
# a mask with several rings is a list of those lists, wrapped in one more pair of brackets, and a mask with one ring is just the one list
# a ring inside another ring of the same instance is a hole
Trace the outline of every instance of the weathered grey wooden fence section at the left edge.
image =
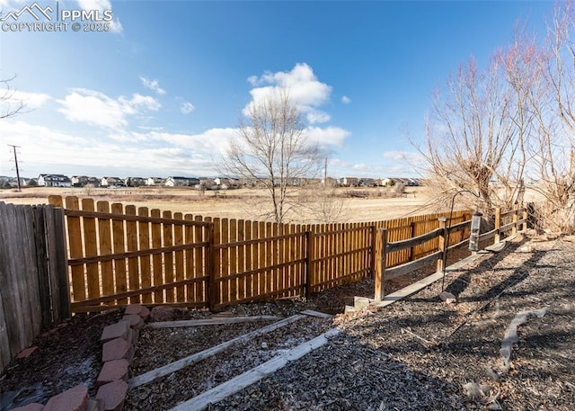
[(0, 202), (0, 372), (69, 316), (64, 213)]

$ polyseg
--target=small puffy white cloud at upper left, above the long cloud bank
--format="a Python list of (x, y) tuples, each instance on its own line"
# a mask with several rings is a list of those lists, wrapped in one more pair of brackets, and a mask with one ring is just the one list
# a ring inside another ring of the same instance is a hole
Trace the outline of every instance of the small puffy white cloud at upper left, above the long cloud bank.
[(117, 129), (128, 125), (127, 116), (143, 114), (146, 111), (157, 112), (162, 105), (154, 97), (133, 94), (131, 98), (119, 96), (117, 99), (100, 92), (75, 89), (67, 94), (58, 112), (62, 112), (69, 121)]

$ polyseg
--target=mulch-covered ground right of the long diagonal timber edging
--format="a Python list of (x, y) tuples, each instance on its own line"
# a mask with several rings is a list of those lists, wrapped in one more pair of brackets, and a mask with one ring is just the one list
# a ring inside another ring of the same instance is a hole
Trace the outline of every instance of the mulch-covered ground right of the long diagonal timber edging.
[[(533, 238), (387, 308), (337, 317), (323, 348), (211, 410), (575, 409), (575, 237)], [(521, 253), (518, 250), (531, 252)], [(500, 353), (518, 326), (509, 371)]]

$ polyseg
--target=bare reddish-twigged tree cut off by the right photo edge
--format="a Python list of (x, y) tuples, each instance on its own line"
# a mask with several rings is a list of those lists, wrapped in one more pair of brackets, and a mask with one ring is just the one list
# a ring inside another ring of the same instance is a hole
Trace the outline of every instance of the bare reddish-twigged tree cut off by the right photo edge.
[(539, 59), (545, 93), (532, 104), (539, 128), (532, 147), (539, 180), (535, 190), (548, 201), (543, 212), (547, 224), (564, 232), (573, 231), (575, 217), (574, 25), (573, 4), (557, 3)]

